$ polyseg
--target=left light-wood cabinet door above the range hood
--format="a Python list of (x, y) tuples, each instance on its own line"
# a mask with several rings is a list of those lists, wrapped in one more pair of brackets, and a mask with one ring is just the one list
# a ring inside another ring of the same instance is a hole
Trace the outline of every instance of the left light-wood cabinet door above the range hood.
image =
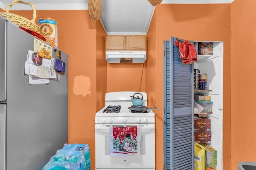
[(125, 50), (125, 36), (106, 36), (106, 50)]

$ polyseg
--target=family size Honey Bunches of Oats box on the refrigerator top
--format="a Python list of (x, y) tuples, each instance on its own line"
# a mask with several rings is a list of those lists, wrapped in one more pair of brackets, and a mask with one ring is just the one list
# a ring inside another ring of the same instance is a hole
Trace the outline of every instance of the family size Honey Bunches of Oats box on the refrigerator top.
[(50, 17), (39, 18), (39, 31), (45, 37), (48, 44), (58, 47), (58, 27), (57, 21)]

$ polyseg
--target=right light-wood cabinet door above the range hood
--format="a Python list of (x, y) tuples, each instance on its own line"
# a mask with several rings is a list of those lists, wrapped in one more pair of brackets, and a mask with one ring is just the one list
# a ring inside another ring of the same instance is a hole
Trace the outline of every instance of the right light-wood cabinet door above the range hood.
[(126, 36), (127, 50), (146, 50), (146, 36)]

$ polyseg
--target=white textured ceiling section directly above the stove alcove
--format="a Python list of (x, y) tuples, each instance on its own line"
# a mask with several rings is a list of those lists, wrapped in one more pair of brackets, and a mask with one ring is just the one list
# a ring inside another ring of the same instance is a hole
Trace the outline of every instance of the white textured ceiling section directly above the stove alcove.
[(155, 6), (148, 0), (103, 0), (101, 23), (106, 35), (146, 35)]

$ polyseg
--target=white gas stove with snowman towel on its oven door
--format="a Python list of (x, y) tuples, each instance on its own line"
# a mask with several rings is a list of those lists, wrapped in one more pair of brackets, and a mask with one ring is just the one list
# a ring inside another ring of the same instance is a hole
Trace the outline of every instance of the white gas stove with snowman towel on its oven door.
[[(135, 93), (106, 93), (105, 107), (95, 115), (96, 170), (155, 169), (155, 113), (151, 109), (132, 113), (128, 107)], [(139, 93), (147, 106), (147, 94)]]

